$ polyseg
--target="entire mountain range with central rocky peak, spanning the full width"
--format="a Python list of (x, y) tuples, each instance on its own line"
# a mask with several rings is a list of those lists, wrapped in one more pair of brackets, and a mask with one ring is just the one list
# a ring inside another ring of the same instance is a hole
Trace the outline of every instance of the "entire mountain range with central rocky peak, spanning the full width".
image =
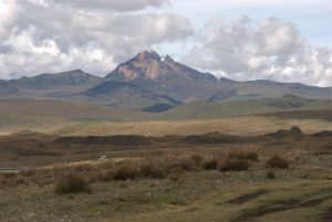
[[(282, 97), (284, 95), (289, 96)], [(0, 81), (0, 98), (84, 102), (152, 113), (170, 112), (183, 104), (195, 105), (197, 101), (208, 102), (207, 104), (212, 106), (214, 103), (218, 105), (220, 102), (241, 101), (242, 104), (251, 104), (252, 109), (259, 106), (292, 109), (307, 103), (299, 97), (331, 99), (332, 88), (267, 80), (218, 80), (210, 73), (194, 70), (176, 62), (169, 55), (160, 56), (155, 51), (138, 53), (105, 77), (74, 70)], [(237, 108), (241, 109), (240, 106)]]

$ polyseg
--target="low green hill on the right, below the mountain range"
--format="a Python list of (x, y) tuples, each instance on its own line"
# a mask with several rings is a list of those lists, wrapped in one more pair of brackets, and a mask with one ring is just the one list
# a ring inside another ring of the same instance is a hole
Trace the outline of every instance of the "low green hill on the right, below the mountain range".
[(278, 98), (230, 101), (224, 103), (191, 102), (158, 115), (159, 119), (212, 119), (288, 110), (331, 110), (331, 101), (307, 99), (287, 94)]

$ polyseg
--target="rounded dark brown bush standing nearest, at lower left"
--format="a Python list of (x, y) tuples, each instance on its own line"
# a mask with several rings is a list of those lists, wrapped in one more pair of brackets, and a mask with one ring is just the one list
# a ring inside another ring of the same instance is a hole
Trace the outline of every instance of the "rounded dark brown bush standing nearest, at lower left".
[(85, 178), (77, 173), (66, 173), (58, 180), (55, 184), (55, 193), (68, 194), (68, 193), (91, 193), (91, 188), (89, 187)]

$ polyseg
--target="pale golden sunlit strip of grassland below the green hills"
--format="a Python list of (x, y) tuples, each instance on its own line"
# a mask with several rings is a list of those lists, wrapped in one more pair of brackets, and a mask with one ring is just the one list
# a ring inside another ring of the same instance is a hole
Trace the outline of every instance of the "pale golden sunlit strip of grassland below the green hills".
[[(304, 113), (305, 114), (305, 113)], [(274, 113), (253, 116), (229, 117), (201, 120), (158, 120), (158, 121), (87, 121), (52, 131), (69, 136), (106, 135), (194, 135), (219, 131), (234, 135), (258, 135), (281, 128), (299, 126), (307, 133), (332, 130), (331, 112), (304, 115), (302, 112)]]

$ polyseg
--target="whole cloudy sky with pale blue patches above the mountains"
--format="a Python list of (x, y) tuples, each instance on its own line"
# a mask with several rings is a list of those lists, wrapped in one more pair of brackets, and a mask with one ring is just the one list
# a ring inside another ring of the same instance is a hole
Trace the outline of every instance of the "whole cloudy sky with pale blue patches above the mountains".
[(0, 78), (110, 73), (155, 50), (237, 81), (332, 86), (329, 0), (0, 0)]

